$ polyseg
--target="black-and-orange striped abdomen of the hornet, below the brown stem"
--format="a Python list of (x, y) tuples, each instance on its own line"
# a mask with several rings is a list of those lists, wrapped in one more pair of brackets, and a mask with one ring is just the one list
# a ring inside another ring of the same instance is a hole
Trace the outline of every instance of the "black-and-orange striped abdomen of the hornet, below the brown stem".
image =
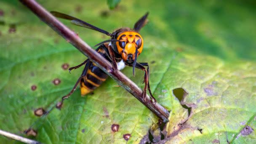
[[(99, 48), (98, 53), (100, 53), (101, 56), (110, 61), (107, 53), (102, 48)], [(85, 66), (82, 75), (84, 75), (80, 81), (80, 90), (82, 96), (98, 88), (101, 83), (103, 83), (108, 77), (105, 72), (103, 72), (91, 61), (89, 61), (88, 65)]]

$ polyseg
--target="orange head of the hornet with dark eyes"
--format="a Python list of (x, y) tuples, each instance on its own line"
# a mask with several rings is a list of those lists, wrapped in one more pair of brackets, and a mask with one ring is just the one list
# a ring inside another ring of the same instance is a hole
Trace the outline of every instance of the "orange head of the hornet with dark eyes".
[[(117, 37), (117, 51), (127, 64), (133, 64), (136, 57), (142, 52), (143, 39), (138, 32), (122, 32)], [(136, 53), (137, 51), (137, 53)]]

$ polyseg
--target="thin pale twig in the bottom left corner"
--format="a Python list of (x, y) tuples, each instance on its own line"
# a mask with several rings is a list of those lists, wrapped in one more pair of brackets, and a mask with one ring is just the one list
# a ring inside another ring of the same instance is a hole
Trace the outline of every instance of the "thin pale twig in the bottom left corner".
[(6, 137), (11, 138), (11, 139), (14, 139), (16, 141), (24, 142), (26, 144), (40, 144), (40, 142), (38, 142), (38, 141), (34, 141), (34, 140), (27, 139), (27, 138), (24, 138), (24, 137), (21, 137), (21, 136), (17, 136), (13, 133), (9, 133), (9, 132), (2, 131), (2, 130), (0, 130), (0, 135), (6, 136)]

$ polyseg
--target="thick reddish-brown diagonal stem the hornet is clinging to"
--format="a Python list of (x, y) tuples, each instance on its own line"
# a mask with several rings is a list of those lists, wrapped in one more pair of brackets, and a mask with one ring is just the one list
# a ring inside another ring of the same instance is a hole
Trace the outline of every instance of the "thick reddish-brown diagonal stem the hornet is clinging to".
[(162, 107), (157, 102), (152, 102), (147, 95), (146, 101), (143, 101), (141, 89), (133, 83), (128, 77), (126, 77), (122, 72), (114, 72), (112, 65), (104, 59), (99, 53), (93, 50), (87, 43), (85, 43), (75, 32), (70, 30), (54, 16), (46, 11), (41, 5), (39, 5), (35, 0), (20, 0), (21, 3), (26, 5), (33, 13), (35, 13), (42, 21), (44, 21), (48, 26), (55, 30), (59, 35), (64, 37), (67, 42), (75, 46), (81, 53), (93, 61), (98, 67), (100, 67), (104, 72), (117, 81), (118, 85), (125, 88), (126, 91), (131, 93), (136, 97), (141, 103), (143, 103), (147, 108), (157, 115), (163, 122), (168, 121), (169, 112), (167, 109)]

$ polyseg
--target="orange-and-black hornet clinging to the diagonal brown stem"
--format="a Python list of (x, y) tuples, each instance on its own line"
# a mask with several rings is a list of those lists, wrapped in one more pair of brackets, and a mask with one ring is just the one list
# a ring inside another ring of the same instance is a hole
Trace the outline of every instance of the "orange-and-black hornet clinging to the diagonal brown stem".
[[(88, 29), (93, 29), (98, 32), (101, 32), (107, 36), (110, 36), (110, 40), (105, 40), (95, 46), (99, 46), (96, 48), (96, 51), (101, 54), (105, 59), (109, 62), (112, 62), (114, 71), (121, 70), (125, 66), (133, 67), (133, 76), (134, 69), (138, 68), (145, 72), (144, 75), (144, 91), (143, 91), (143, 99), (146, 98), (147, 90), (150, 93), (151, 98), (155, 101), (155, 98), (152, 96), (149, 86), (149, 65), (148, 63), (139, 63), (137, 62), (137, 57), (141, 54), (143, 50), (143, 39), (139, 34), (139, 31), (145, 24), (147, 24), (147, 16), (149, 13), (146, 13), (142, 16), (134, 25), (133, 29), (128, 27), (120, 28), (115, 30), (112, 33), (109, 33), (103, 29), (95, 27), (91, 24), (88, 24), (85, 21), (77, 19), (75, 17), (69, 16), (64, 13), (59, 13), (56, 11), (51, 11), (53, 16), (70, 20), (72, 24), (75, 24), (80, 27), (86, 27)], [(61, 108), (63, 101), (68, 99), (72, 93), (77, 88), (77, 85), (80, 83), (80, 91), (81, 95), (84, 96), (87, 93), (92, 92), (95, 88), (99, 87), (102, 82), (104, 82), (108, 75), (103, 72), (99, 67), (97, 67), (92, 61), (86, 59), (83, 63), (70, 67), (69, 72), (72, 69), (77, 69), (85, 65), (83, 69), (82, 75), (79, 77), (77, 82), (75, 83), (74, 88), (66, 95), (62, 97), (61, 102), (59, 102), (56, 107)], [(146, 66), (147, 69), (144, 67)]]

